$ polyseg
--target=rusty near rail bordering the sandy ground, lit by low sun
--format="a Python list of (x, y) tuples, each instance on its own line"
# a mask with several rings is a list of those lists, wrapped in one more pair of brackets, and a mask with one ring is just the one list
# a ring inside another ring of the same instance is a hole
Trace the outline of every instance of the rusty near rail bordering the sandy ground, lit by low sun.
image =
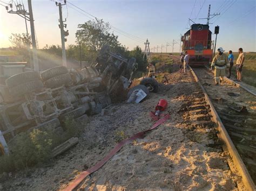
[(235, 148), (230, 136), (228, 135), (224, 124), (221, 122), (221, 119), (220, 119), (219, 115), (217, 114), (217, 111), (215, 110), (215, 108), (210, 100), (210, 97), (207, 95), (206, 90), (203, 87), (203, 85), (201, 84), (201, 82), (199, 81), (196, 73), (194, 73), (193, 69), (190, 66), (188, 66), (188, 67), (190, 68), (190, 70), (191, 70), (194, 78), (198, 82), (199, 86), (203, 90), (206, 102), (211, 107), (211, 114), (212, 114), (211, 119), (213, 122), (215, 122), (217, 124), (217, 129), (219, 131), (218, 137), (224, 143), (224, 145), (223, 145), (224, 151), (228, 151), (228, 153), (230, 153), (235, 167), (238, 169), (239, 173), (241, 174), (242, 181), (244, 182), (246, 190), (256, 190), (256, 186), (251, 178), (251, 175), (249, 174), (244, 162), (242, 161), (242, 159), (237, 151), (237, 148)]

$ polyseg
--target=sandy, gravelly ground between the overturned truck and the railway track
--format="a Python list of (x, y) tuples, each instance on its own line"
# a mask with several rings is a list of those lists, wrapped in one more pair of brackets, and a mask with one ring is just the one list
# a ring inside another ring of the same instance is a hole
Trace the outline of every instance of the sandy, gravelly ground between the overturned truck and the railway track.
[[(177, 70), (174, 66), (174, 71)], [(4, 190), (59, 190), (95, 165), (123, 137), (149, 129), (149, 111), (158, 100), (169, 102), (170, 119), (143, 138), (125, 145), (102, 168), (86, 178), (85, 190), (238, 190), (241, 178), (227, 165), (230, 157), (218, 144), (212, 125), (193, 125), (188, 108), (204, 104), (192, 74), (173, 72), (139, 104), (114, 104), (104, 116), (84, 124), (79, 144), (53, 160), (49, 167), (5, 175)], [(211, 145), (211, 146), (210, 146)], [(2, 179), (3, 180), (3, 179)]]

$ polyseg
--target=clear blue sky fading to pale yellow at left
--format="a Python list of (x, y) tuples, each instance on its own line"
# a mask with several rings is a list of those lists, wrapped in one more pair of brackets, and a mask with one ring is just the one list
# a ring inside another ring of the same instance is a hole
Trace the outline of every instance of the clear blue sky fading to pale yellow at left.
[[(15, 0), (15, 2), (22, 0)], [(7, 13), (4, 6), (10, 0), (0, 0), (0, 47), (9, 47), (11, 33), (25, 33), (25, 21), (18, 15)], [(61, 2), (58, 0), (58, 2)], [(63, 2), (63, 1), (62, 1)], [(144, 42), (149, 39), (152, 51), (179, 52), (180, 34), (184, 34), (192, 22), (206, 24), (208, 6), (211, 4), (211, 14), (220, 13), (210, 20), (210, 30), (214, 33), (214, 26), (220, 26), (217, 37), (217, 47), (223, 47), (226, 52), (237, 52), (242, 47), (245, 52), (256, 52), (256, 1), (254, 0), (67, 0), (63, 6), (63, 18), (66, 18), (66, 29), (69, 30), (69, 44), (76, 43), (75, 33), (78, 24), (90, 20), (91, 15), (109, 22), (110, 32), (118, 36), (120, 43), (133, 49), (140, 46), (144, 49)], [(80, 9), (75, 8), (72, 3)], [(28, 10), (26, 0), (23, 0)], [(59, 11), (55, 1), (32, 0), (33, 17), (35, 20), (36, 37), (39, 48), (46, 44), (61, 45), (58, 27)], [(83, 14), (82, 14), (83, 13)], [(87, 17), (89, 16), (89, 17)], [(28, 23), (29, 25), (29, 23)], [(120, 32), (122, 30), (122, 32)], [(30, 27), (29, 27), (30, 31)], [(118, 32), (119, 31), (119, 32)], [(124, 33), (125, 32), (125, 33)], [(30, 32), (29, 32), (30, 33)], [(215, 40), (215, 34), (212, 35)]]

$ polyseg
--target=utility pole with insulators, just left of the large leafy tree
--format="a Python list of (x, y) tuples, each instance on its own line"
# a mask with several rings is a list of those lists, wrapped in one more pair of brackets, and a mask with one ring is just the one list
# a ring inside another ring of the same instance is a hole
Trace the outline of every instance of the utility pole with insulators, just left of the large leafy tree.
[[(66, 1), (64, 1), (64, 4), (61, 3), (57, 3), (55, 2), (56, 6), (59, 7), (59, 28), (60, 28), (60, 36), (62, 38), (62, 65), (63, 66), (67, 66), (66, 65), (66, 50), (65, 50), (65, 37), (69, 35), (69, 31), (64, 31), (64, 26), (66, 27), (66, 24), (63, 24), (63, 19), (62, 19), (62, 5), (66, 4)], [(65, 19), (66, 21), (66, 19)]]

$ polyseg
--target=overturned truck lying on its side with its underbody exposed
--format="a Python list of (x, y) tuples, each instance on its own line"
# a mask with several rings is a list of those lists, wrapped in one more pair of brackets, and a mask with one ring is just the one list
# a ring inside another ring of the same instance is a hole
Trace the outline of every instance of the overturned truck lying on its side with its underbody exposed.
[(58, 66), (9, 77), (0, 86), (1, 154), (8, 152), (8, 143), (19, 132), (50, 128), (61, 133), (66, 117), (99, 113), (111, 104), (113, 90), (131, 86), (136, 69), (136, 59), (104, 46), (95, 66), (71, 71)]

